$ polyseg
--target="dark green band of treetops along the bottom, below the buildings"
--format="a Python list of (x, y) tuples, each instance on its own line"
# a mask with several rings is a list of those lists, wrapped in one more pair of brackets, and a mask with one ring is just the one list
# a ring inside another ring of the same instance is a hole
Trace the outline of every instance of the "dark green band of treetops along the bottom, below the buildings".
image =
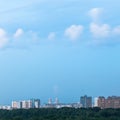
[(120, 109), (41, 108), (0, 110), (0, 120), (120, 120)]

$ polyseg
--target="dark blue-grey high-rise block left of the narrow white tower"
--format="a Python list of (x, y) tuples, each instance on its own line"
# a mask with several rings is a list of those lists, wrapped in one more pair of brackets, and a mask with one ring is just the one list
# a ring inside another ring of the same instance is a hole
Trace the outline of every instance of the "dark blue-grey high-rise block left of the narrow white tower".
[(92, 97), (88, 97), (87, 95), (81, 96), (80, 103), (84, 108), (92, 107)]

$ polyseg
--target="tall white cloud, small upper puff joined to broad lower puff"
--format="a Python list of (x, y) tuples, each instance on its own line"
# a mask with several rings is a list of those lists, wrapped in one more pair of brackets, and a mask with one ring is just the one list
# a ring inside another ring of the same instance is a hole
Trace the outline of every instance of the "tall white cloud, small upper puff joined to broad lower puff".
[(90, 32), (94, 38), (107, 38), (111, 35), (112, 29), (109, 24), (99, 23), (103, 8), (92, 8), (88, 11), (92, 18), (90, 23)]

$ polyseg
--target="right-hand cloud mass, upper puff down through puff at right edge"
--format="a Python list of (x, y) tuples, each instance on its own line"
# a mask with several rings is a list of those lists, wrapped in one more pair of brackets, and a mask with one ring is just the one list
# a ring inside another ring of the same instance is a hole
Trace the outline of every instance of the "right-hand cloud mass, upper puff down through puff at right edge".
[(89, 25), (90, 33), (93, 36), (93, 41), (95, 44), (109, 42), (113, 43), (115, 40), (112, 40), (111, 38), (115, 38), (120, 35), (120, 26), (118, 25), (111, 28), (109, 24), (102, 23), (100, 20), (102, 13), (103, 8), (92, 8), (88, 11), (89, 16), (92, 18)]

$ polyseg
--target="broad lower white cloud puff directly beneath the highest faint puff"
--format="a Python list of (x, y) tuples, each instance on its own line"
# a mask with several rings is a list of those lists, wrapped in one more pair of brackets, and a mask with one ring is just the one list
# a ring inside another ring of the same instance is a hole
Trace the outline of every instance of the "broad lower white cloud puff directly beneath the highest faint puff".
[(104, 38), (108, 37), (110, 35), (111, 29), (108, 24), (96, 24), (96, 23), (91, 23), (90, 24), (90, 32), (92, 33), (93, 37), (96, 38)]

